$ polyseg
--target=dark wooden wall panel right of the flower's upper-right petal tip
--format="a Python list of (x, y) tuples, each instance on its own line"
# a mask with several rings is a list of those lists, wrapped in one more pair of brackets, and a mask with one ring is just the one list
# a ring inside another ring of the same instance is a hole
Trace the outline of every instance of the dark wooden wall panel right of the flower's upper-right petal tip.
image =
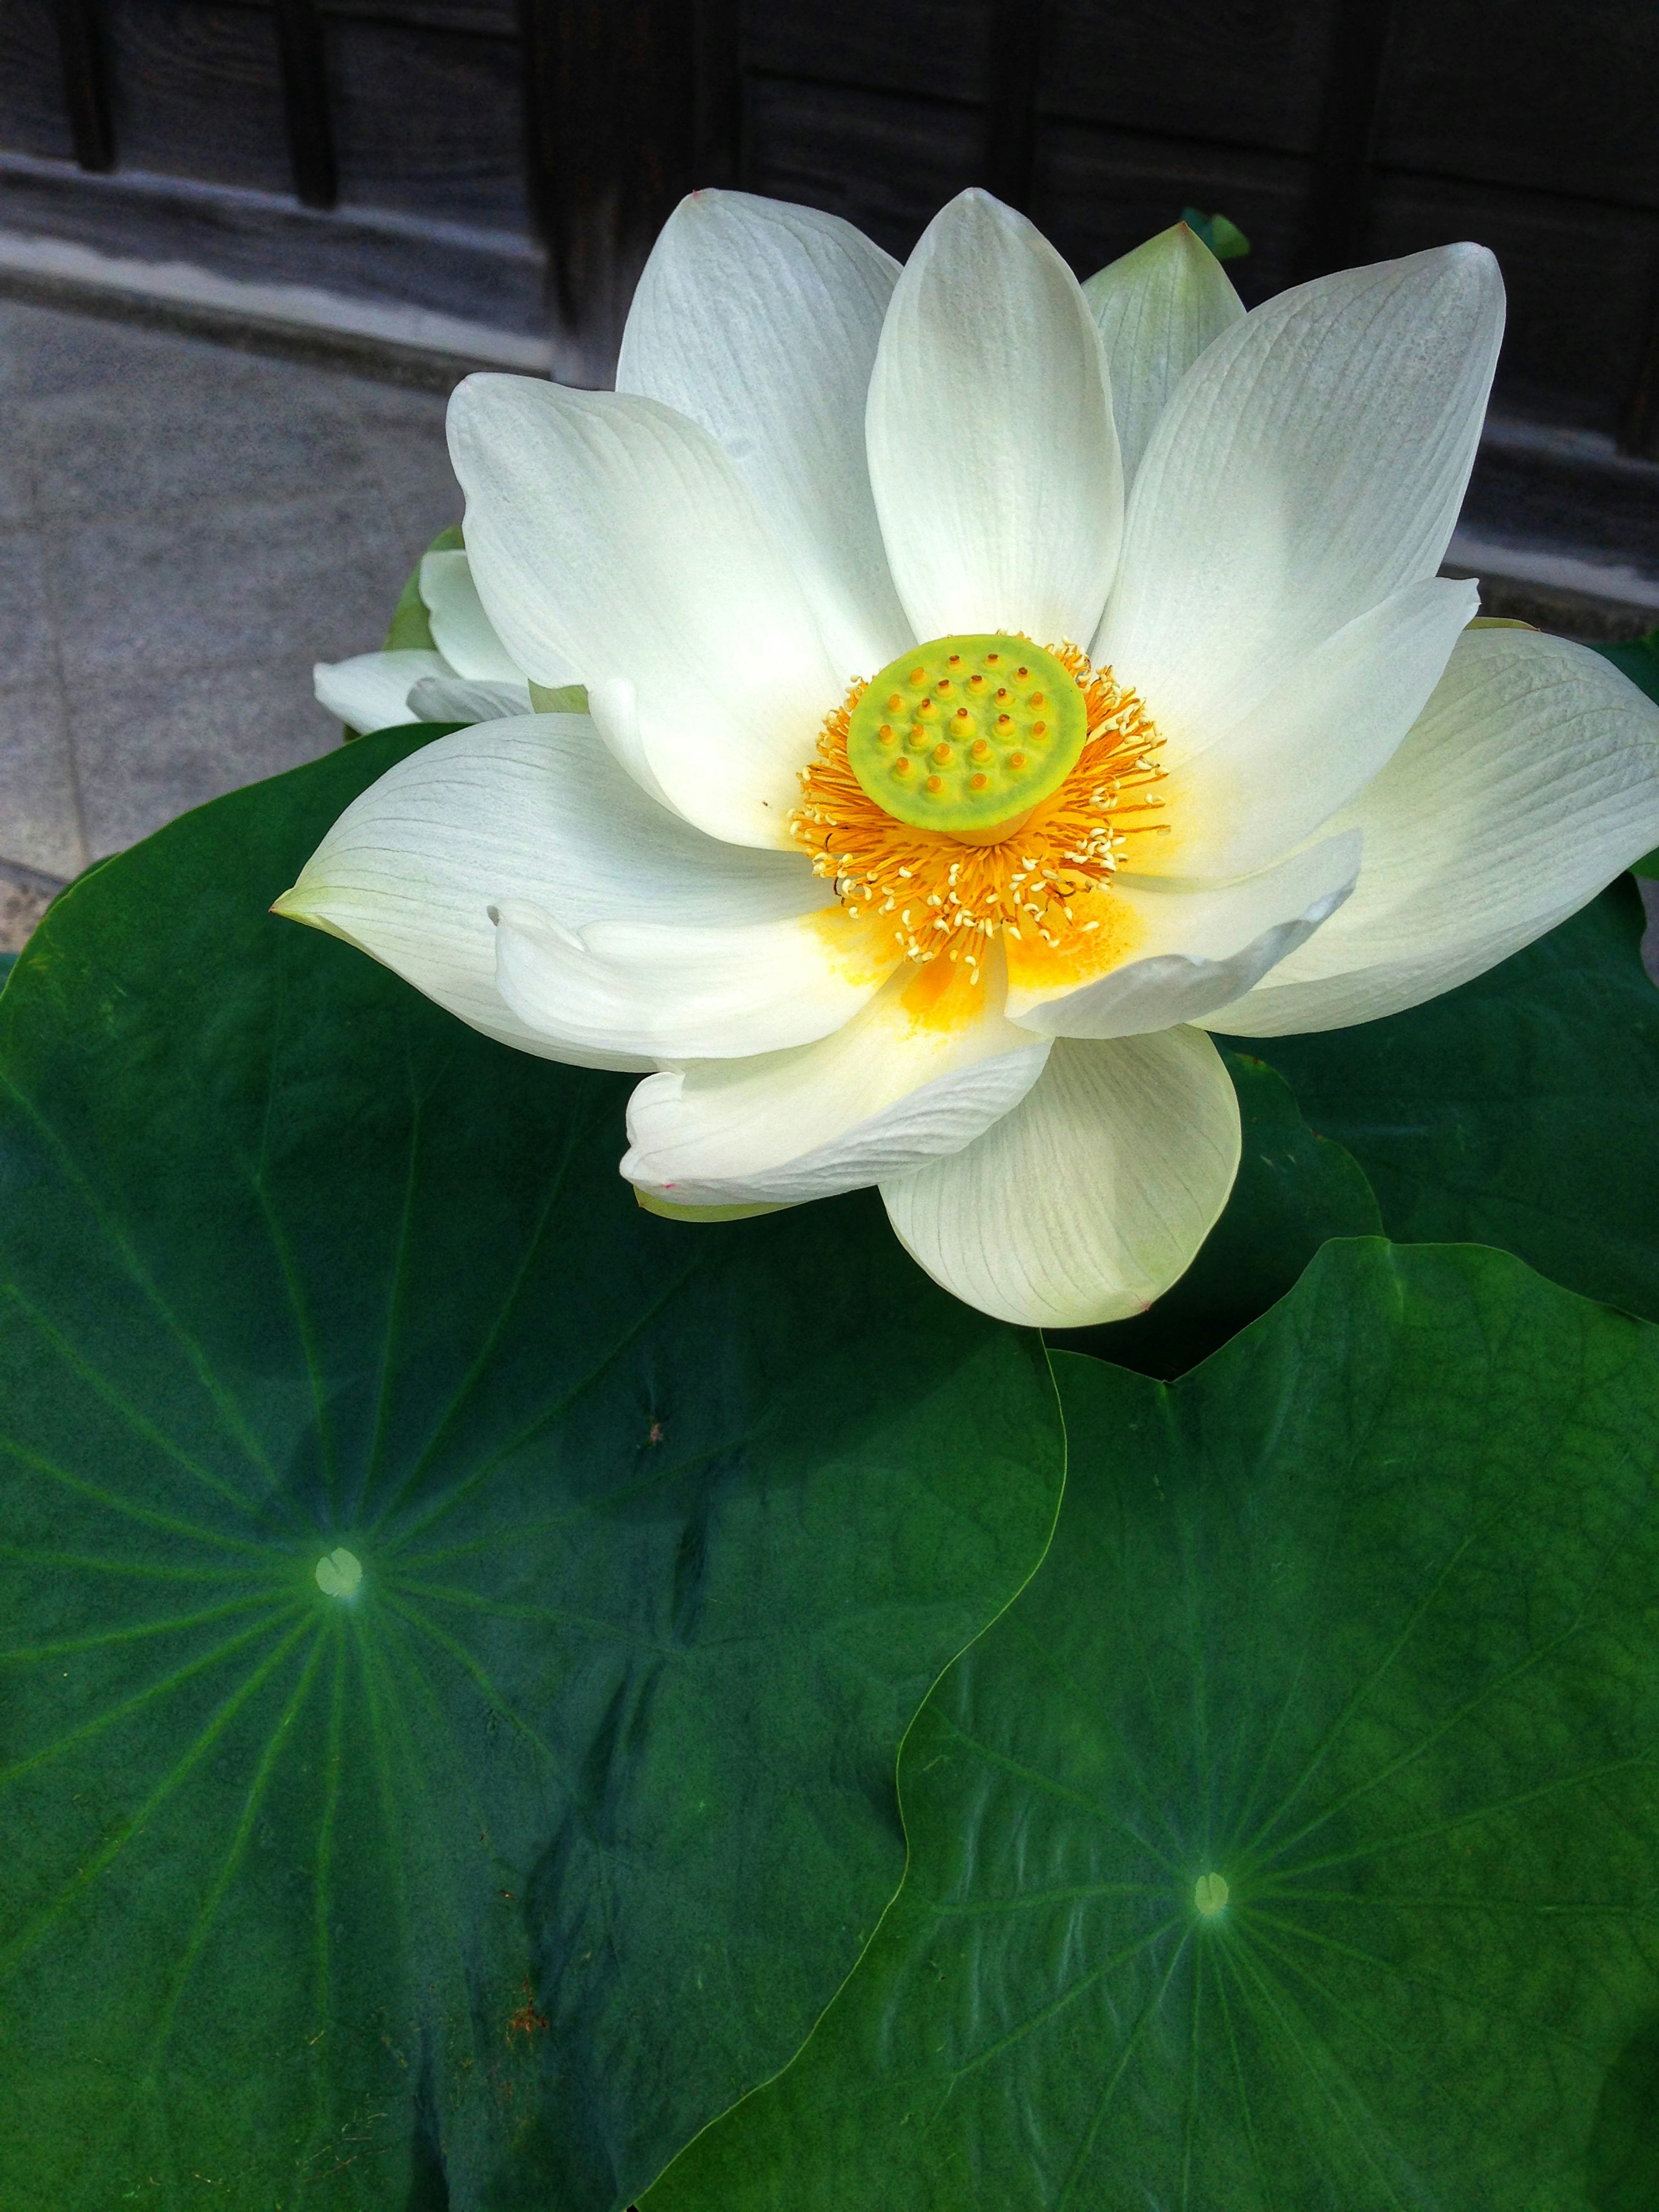
[(1378, 177), (1369, 259), (1491, 246), (1509, 288), (1504, 405), (1615, 431), (1659, 270), (1659, 215), (1418, 177)]

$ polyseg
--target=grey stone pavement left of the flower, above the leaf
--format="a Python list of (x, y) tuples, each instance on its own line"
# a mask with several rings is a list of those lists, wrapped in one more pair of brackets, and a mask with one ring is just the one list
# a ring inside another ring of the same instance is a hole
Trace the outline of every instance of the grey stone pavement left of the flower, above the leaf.
[(460, 520), (445, 400), (0, 299), (0, 951), (91, 860), (327, 752)]

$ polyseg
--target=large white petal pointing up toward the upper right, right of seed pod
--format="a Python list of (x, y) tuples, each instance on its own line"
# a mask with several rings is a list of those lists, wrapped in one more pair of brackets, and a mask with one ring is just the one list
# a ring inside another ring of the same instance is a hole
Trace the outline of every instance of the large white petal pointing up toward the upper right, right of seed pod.
[(1281, 292), (1199, 356), (1135, 478), (1095, 639), (1170, 759), (1436, 573), (1502, 325), (1493, 257), (1440, 246)]

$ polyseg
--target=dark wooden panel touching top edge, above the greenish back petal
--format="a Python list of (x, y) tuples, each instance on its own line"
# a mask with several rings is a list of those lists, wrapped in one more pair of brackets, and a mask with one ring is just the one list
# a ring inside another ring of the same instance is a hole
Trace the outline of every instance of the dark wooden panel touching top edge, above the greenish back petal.
[(1310, 153), (1332, 0), (1048, 0), (1040, 106), (1183, 139)]

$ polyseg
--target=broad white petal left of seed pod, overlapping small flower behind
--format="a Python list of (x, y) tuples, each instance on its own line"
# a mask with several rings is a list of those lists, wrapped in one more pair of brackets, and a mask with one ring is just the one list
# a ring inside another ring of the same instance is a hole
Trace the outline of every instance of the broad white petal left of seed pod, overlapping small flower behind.
[(843, 686), (708, 431), (655, 400), (469, 376), (449, 451), (473, 582), (524, 672), (633, 684), (655, 787), (712, 836), (787, 845)]

